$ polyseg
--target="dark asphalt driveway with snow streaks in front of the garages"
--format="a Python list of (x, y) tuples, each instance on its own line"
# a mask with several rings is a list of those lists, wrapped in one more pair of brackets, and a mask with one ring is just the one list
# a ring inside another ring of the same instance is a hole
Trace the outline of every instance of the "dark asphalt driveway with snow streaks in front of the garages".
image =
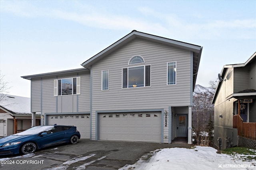
[(31, 155), (0, 157), (0, 160), (6, 160), (6, 164), (0, 164), (0, 169), (116, 170), (126, 164), (134, 164), (139, 159), (148, 160), (154, 154), (150, 151), (170, 147), (190, 148), (191, 145), (80, 139), (75, 145), (58, 145)]

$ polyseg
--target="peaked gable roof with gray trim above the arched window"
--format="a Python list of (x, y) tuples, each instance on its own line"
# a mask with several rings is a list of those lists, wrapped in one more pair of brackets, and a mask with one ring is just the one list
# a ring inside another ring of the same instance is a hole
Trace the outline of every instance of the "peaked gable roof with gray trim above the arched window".
[(190, 43), (184, 43), (182, 41), (176, 41), (173, 39), (168, 39), (168, 38), (159, 37), (156, 35), (151, 35), (148, 33), (142, 33), (142, 32), (136, 31), (136, 30), (133, 30), (131, 33), (129, 33), (128, 35), (119, 39), (118, 41), (116, 41), (115, 43), (113, 43), (112, 45), (107, 47), (106, 49), (100, 51), (100, 53), (94, 55), (93, 57), (91, 57), (90, 59), (88, 59), (87, 61), (82, 63), (81, 65), (85, 68), (90, 68), (90, 66), (92, 66), (92, 64), (96, 63), (100, 59), (104, 58), (106, 55), (112, 53), (116, 49), (122, 47), (123, 45), (132, 41), (135, 38), (146, 39), (149, 41), (154, 41), (157, 43), (162, 43), (162, 44), (170, 45), (173, 47), (178, 47), (181, 49), (186, 49), (186, 50), (192, 51), (193, 52), (193, 90), (194, 90), (203, 47), (198, 46), (198, 45), (193, 45)]

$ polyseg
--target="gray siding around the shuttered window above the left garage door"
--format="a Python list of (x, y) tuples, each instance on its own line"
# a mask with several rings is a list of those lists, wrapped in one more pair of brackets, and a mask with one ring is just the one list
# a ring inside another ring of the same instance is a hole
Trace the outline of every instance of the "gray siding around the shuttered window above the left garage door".
[[(81, 75), (80, 75), (81, 74)], [(54, 96), (54, 80), (80, 76), (80, 95)], [(88, 112), (90, 111), (90, 72), (66, 73), (31, 80), (32, 111), (42, 113)], [(42, 92), (41, 92), (42, 90)], [(41, 96), (42, 94), (42, 96)], [(77, 97), (78, 96), (78, 97)], [(42, 102), (41, 102), (42, 98)], [(62, 98), (64, 98), (62, 100)], [(77, 103), (77, 98), (78, 102)], [(58, 101), (58, 102), (57, 102)], [(57, 106), (58, 104), (58, 106)], [(78, 109), (77, 109), (78, 108)]]

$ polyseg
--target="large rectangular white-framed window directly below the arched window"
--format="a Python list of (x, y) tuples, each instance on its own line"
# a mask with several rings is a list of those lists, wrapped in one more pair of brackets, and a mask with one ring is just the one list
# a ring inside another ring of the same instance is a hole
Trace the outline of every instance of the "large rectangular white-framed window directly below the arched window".
[(122, 69), (122, 88), (151, 86), (151, 65), (133, 66)]

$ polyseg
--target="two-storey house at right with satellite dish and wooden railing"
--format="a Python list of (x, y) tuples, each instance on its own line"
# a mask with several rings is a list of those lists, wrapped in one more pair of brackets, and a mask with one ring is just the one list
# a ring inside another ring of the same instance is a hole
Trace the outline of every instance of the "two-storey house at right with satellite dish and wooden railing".
[(221, 149), (256, 140), (256, 53), (245, 63), (224, 65), (220, 80), (212, 100), (216, 147), (218, 138)]

